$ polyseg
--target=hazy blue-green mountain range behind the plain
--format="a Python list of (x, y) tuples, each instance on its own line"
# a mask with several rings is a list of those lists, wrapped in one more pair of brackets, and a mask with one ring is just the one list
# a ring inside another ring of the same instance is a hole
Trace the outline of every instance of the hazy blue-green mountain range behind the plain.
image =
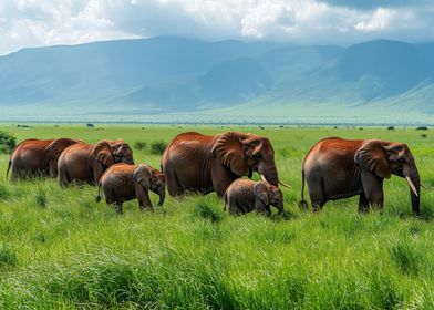
[(0, 56), (0, 118), (431, 120), (433, 54), (178, 37), (23, 49)]

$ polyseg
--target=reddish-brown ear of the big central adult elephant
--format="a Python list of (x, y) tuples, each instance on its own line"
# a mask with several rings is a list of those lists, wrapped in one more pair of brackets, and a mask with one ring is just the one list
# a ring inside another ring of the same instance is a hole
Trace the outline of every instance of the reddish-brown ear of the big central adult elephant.
[(245, 134), (228, 132), (216, 137), (211, 154), (220, 163), (238, 176), (249, 174), (241, 141)]

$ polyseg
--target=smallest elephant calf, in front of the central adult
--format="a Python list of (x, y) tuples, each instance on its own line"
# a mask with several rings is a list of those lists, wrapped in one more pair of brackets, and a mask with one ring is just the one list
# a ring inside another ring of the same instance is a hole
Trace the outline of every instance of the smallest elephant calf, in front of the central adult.
[(238, 178), (234, 180), (225, 193), (225, 210), (229, 206), (232, 215), (246, 214), (252, 210), (271, 215), (270, 205), (283, 214), (283, 194), (279, 187), (267, 180), (255, 182)]

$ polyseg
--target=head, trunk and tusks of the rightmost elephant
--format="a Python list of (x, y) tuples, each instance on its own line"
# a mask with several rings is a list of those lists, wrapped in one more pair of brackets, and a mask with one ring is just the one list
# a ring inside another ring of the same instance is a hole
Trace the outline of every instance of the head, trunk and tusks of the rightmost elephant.
[(405, 177), (411, 189), (413, 214), (420, 214), (421, 180), (409, 146), (403, 143), (370, 140), (358, 149), (354, 161), (363, 169), (381, 178), (390, 178), (392, 174)]

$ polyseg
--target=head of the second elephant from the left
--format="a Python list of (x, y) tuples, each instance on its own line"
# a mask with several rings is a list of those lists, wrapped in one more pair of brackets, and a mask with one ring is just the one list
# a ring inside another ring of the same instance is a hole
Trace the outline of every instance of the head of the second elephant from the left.
[(117, 163), (134, 165), (133, 151), (123, 140), (104, 140), (93, 148), (93, 156), (106, 167)]

